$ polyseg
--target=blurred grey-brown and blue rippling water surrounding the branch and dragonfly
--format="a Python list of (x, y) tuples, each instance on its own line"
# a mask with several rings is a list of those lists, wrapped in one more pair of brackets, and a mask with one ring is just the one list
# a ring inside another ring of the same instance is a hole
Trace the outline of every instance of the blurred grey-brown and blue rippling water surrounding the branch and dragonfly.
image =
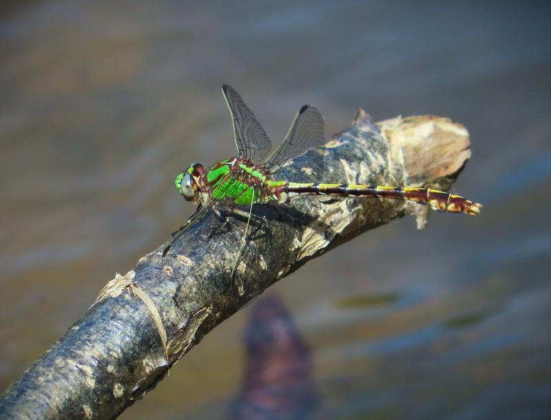
[[(463, 123), (455, 191), (486, 206), (398, 220), (267, 291), (311, 367), (286, 418), (550, 418), (550, 40), (545, 1), (3, 3), (1, 388), (191, 214), (172, 179), (233, 155), (229, 83), (275, 144), (305, 103), (328, 136), (360, 106)], [(236, 415), (262, 302), (121, 418)]]

